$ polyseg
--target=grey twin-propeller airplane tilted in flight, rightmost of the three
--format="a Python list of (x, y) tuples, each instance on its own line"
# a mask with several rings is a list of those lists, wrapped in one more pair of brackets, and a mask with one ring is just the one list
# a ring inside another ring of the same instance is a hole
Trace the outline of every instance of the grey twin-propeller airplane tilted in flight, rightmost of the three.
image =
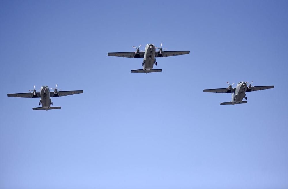
[[(227, 104), (244, 104), (247, 103), (247, 101), (242, 101), (244, 98), (247, 100), (246, 92), (252, 92), (257, 90), (264, 90), (264, 89), (270, 89), (274, 88), (274, 85), (271, 86), (252, 86), (253, 81), (250, 83), (248, 82), (239, 82), (236, 86), (236, 88), (232, 88), (232, 85), (229, 85), (227, 88), (219, 88), (219, 89), (204, 89), (203, 92), (215, 92), (215, 93), (231, 93), (232, 100), (231, 102), (221, 102), (220, 105), (227, 105)], [(249, 86), (247, 86), (249, 84)]]

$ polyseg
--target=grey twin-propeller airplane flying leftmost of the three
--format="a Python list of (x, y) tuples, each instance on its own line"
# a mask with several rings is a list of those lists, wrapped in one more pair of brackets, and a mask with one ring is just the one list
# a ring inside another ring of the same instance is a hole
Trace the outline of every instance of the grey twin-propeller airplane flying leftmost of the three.
[(60, 89), (57, 89), (57, 85), (53, 89), (53, 92), (50, 92), (48, 86), (42, 86), (40, 92), (36, 92), (35, 85), (33, 92), (27, 92), (27, 93), (15, 93), (15, 94), (7, 94), (8, 97), (21, 97), (21, 98), (41, 98), (39, 102), (39, 106), (42, 104), (42, 107), (38, 108), (32, 108), (33, 110), (50, 110), (50, 109), (61, 109), (61, 107), (58, 106), (51, 106), (53, 105), (53, 102), (51, 101), (50, 97), (63, 97), (67, 95), (73, 95), (73, 94), (80, 94), (83, 93), (83, 90), (70, 90), (70, 91), (61, 91)]

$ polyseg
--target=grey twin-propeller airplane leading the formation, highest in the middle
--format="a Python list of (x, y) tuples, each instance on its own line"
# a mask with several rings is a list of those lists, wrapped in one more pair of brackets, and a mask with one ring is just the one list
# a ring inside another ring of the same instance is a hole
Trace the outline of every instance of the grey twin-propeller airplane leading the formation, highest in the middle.
[[(189, 54), (190, 51), (163, 51), (166, 50), (162, 48), (162, 43), (160, 47), (155, 47), (153, 44), (147, 44), (145, 47), (145, 52), (139, 50), (139, 47), (132, 46), (136, 49), (135, 52), (108, 52), (108, 56), (119, 56), (126, 58), (144, 58), (142, 62), (143, 69), (131, 70), (131, 73), (151, 73), (151, 72), (161, 72), (162, 69), (153, 69), (153, 65), (157, 66), (156, 58), (168, 57), (168, 56), (178, 56), (183, 54)], [(156, 49), (159, 51), (156, 52)]]

